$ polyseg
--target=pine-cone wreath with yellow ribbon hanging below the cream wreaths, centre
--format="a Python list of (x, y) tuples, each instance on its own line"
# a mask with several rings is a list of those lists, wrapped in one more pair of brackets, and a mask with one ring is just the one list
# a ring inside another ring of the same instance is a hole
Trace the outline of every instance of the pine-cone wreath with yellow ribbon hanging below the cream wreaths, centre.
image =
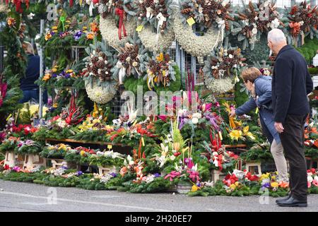
[(177, 64), (170, 61), (170, 55), (160, 53), (158, 57), (149, 59), (147, 65), (147, 74), (143, 80), (147, 81), (149, 90), (155, 87), (169, 87), (170, 82), (176, 81), (174, 66)]

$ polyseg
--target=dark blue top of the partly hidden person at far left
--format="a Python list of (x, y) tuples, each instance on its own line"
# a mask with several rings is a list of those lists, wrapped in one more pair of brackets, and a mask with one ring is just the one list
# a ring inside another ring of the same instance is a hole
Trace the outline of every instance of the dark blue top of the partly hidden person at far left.
[(20, 79), (21, 90), (33, 90), (38, 88), (35, 81), (40, 77), (40, 57), (38, 55), (28, 55), (28, 65), (25, 77)]

